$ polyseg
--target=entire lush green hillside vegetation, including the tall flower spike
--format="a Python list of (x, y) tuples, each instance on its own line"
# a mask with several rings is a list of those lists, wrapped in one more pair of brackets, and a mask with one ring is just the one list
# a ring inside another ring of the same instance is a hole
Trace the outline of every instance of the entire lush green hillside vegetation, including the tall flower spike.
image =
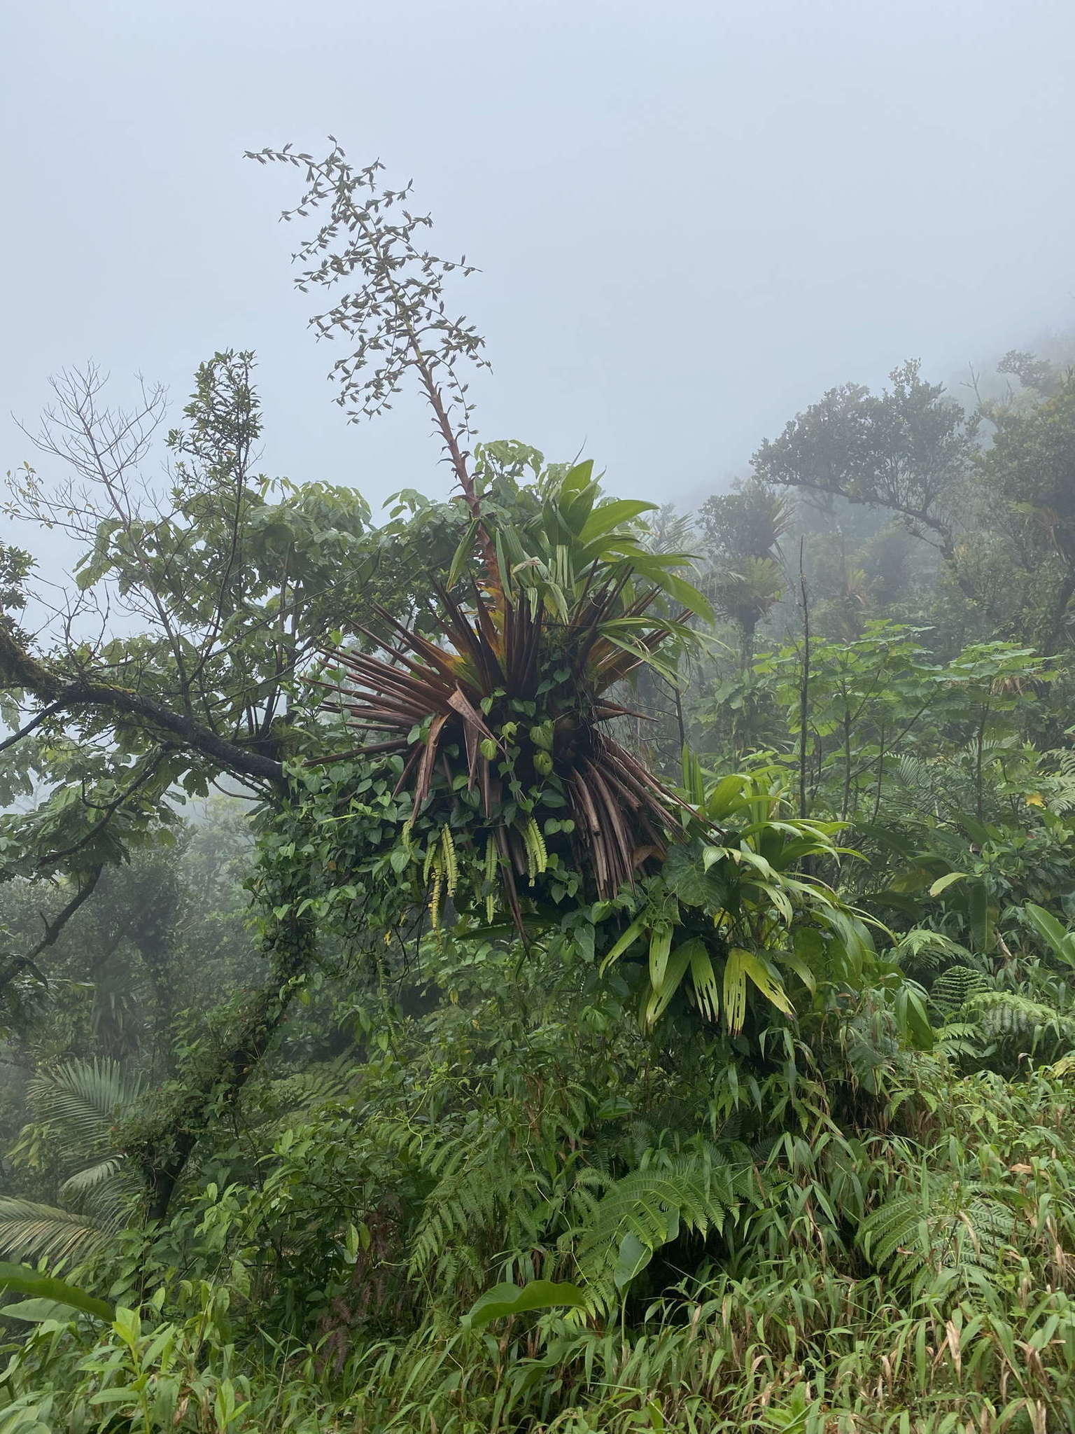
[(480, 436), (408, 191), (251, 158), (335, 397), (417, 390), (452, 495), (262, 473), (249, 353), (181, 414), (54, 380), (0, 1434), (1069, 1430), (1075, 346), (658, 508)]

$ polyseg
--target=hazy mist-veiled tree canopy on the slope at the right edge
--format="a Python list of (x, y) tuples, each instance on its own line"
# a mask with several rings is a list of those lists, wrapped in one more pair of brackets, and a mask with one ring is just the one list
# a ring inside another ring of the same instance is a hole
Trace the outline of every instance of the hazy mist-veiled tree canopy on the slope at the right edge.
[(1072, 380), (1016, 351), (1000, 371), (1021, 377), (1022, 394), (970, 417), (917, 363), (894, 370), (880, 394), (833, 389), (763, 443), (754, 472), (890, 511), (993, 631), (1052, 654), (1069, 642), (1075, 594)]

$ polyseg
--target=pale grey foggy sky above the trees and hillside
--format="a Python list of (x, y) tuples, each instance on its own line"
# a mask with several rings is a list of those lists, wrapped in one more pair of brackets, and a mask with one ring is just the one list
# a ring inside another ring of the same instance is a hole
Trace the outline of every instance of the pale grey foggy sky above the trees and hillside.
[(446, 488), (414, 406), (333, 403), (294, 175), (241, 159), (328, 132), (482, 265), (482, 435), (585, 446), (626, 495), (697, 498), (827, 386), (1075, 318), (1072, 0), (10, 0), (0, 54), (0, 469), (64, 364), (179, 407), (249, 347), (268, 470)]

